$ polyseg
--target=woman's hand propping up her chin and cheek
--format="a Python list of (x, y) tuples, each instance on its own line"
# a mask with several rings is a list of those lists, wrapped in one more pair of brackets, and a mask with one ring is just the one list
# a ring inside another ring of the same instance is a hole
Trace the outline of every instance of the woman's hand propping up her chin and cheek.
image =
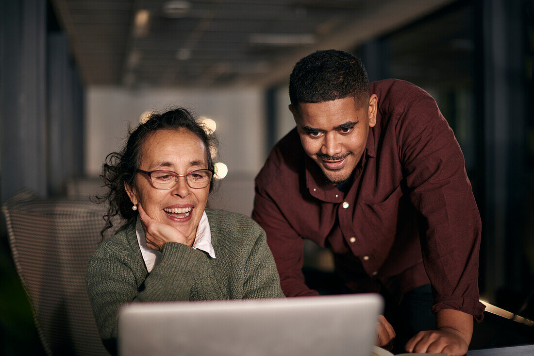
[(161, 251), (161, 246), (166, 242), (177, 242), (180, 244), (187, 244), (184, 234), (170, 225), (166, 225), (157, 220), (152, 219), (143, 210), (141, 204), (137, 204), (139, 217), (145, 230), (146, 246), (152, 250)]

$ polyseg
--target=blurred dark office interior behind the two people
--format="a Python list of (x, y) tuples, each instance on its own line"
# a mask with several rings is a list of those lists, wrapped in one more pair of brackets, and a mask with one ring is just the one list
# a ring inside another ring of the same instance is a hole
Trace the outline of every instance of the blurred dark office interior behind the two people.
[[(293, 65), (347, 50), (371, 81), (404, 79), (434, 96), (482, 216), (481, 298), (534, 318), (534, 1), (0, 4), (0, 202), (22, 188), (89, 196), (128, 127), (181, 105), (216, 123), (227, 174), (210, 206), (249, 215), (255, 175), (294, 127)], [(0, 224), (0, 353), (40, 354)], [(305, 249), (310, 268), (331, 270), (326, 252)]]

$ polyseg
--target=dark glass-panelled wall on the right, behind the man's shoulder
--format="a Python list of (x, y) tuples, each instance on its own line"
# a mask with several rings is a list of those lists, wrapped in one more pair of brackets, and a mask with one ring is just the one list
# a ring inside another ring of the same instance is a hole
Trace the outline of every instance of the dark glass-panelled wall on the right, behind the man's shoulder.
[(355, 50), (370, 80), (435, 97), (481, 213), (481, 296), (514, 313), (534, 287), (533, 12), (530, 0), (458, 1)]

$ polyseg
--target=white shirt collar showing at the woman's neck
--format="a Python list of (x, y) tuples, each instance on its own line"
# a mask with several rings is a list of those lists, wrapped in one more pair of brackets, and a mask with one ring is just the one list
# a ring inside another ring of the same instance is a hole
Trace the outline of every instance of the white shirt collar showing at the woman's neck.
[[(152, 272), (155, 266), (157, 266), (161, 260), (161, 252), (158, 250), (152, 250), (146, 246), (145, 230), (141, 225), (141, 219), (137, 216), (137, 223), (135, 226), (135, 233), (137, 235), (137, 242), (139, 243), (139, 249), (143, 255), (146, 269), (148, 273)], [(197, 234), (195, 235), (195, 241), (193, 242), (193, 249), (202, 250), (207, 252), (211, 258), (215, 258), (215, 251), (211, 245), (211, 230), (209, 229), (208, 215), (206, 212), (202, 213), (199, 226), (197, 228)]]

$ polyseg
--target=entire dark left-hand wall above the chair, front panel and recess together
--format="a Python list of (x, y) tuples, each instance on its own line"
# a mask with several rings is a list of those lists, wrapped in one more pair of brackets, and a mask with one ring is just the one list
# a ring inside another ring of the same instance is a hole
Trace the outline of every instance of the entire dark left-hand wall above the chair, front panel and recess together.
[(83, 172), (83, 86), (45, 0), (0, 2), (0, 202)]

